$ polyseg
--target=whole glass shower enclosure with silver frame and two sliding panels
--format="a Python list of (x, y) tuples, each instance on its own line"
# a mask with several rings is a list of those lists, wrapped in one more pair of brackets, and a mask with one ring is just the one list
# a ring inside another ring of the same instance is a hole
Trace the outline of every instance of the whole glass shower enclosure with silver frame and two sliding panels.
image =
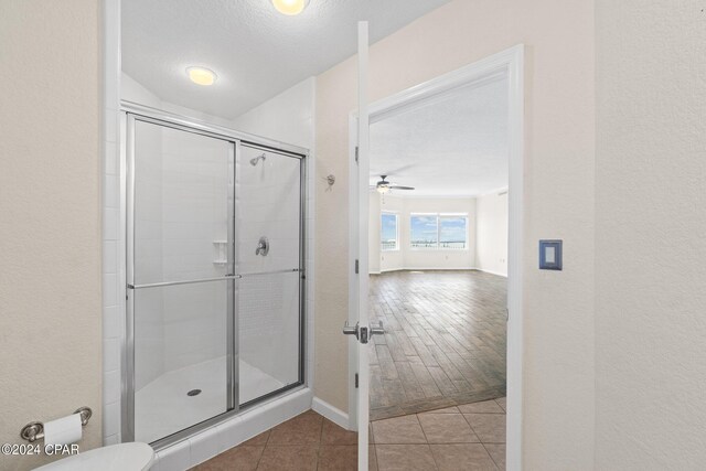
[(124, 441), (303, 384), (306, 151), (126, 111)]

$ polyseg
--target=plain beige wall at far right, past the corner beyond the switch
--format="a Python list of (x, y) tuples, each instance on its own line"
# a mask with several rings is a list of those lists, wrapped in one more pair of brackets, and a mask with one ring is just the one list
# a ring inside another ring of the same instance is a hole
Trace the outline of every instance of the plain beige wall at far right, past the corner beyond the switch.
[(597, 2), (596, 468), (706, 463), (706, 2)]

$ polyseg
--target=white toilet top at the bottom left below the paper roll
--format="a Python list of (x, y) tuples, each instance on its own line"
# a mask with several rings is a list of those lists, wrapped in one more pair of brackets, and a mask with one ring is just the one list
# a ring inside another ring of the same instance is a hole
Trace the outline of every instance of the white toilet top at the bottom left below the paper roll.
[(130, 442), (96, 448), (74, 454), (36, 471), (146, 471), (152, 467), (154, 450), (147, 443)]

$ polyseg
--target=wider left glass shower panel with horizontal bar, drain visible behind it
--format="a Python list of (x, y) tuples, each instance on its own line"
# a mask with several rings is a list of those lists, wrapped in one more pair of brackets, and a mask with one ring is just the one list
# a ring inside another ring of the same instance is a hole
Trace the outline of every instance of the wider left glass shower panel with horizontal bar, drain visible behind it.
[(234, 144), (141, 120), (133, 139), (135, 439), (153, 442), (229, 406)]

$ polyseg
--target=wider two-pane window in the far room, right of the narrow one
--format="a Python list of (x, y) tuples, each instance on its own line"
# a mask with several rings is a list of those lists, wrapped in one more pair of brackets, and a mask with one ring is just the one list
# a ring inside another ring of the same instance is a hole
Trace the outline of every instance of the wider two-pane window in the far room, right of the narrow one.
[(466, 214), (411, 214), (410, 246), (419, 249), (467, 249)]

